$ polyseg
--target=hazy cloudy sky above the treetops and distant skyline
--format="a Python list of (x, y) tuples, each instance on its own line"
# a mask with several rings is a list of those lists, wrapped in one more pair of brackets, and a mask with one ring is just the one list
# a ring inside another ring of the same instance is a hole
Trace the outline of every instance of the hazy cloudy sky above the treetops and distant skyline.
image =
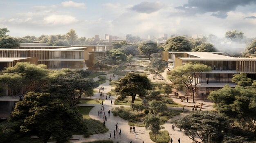
[(256, 37), (256, 0), (0, 0), (0, 28), (24, 37), (65, 34), (101, 38), (105, 33), (158, 37), (229, 30)]

